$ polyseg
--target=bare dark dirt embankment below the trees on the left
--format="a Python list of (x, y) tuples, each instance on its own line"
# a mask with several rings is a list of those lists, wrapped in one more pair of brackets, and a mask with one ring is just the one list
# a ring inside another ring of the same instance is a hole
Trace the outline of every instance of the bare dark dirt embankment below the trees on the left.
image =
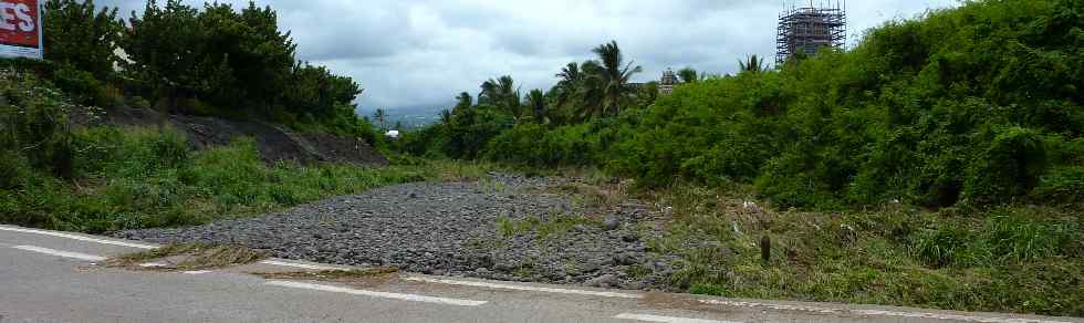
[(124, 126), (156, 126), (159, 123), (184, 131), (196, 149), (229, 145), (238, 137), (252, 137), (260, 156), (268, 162), (295, 160), (299, 163), (352, 163), (387, 166), (384, 155), (361, 138), (329, 134), (299, 134), (281, 126), (249, 121), (230, 121), (215, 117), (163, 115), (156, 111), (117, 107), (102, 116), (87, 117), (86, 113), (73, 112), (76, 124), (113, 124)]

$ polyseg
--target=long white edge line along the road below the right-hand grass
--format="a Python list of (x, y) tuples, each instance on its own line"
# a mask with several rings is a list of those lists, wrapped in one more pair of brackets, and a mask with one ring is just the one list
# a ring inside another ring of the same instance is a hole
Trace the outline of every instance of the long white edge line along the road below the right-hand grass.
[(763, 308), (763, 309), (770, 309), (776, 311), (802, 311), (802, 312), (813, 312), (813, 313), (822, 313), (822, 314), (842, 314), (842, 315), (850, 314), (850, 315), (868, 315), (868, 316), (916, 317), (916, 319), (932, 319), (932, 320), (962, 321), (962, 322), (977, 322), (977, 323), (1071, 323), (1064, 321), (1050, 321), (1050, 320), (1036, 320), (1036, 319), (983, 317), (983, 316), (970, 316), (970, 315), (957, 315), (957, 314), (897, 312), (897, 311), (880, 311), (880, 310), (848, 310), (848, 309), (837, 309), (837, 308), (833, 309), (833, 308), (820, 308), (820, 306), (784, 305), (784, 304), (723, 301), (723, 300), (700, 300), (700, 302), (705, 304), (728, 305), (728, 306), (739, 306), (739, 308)]

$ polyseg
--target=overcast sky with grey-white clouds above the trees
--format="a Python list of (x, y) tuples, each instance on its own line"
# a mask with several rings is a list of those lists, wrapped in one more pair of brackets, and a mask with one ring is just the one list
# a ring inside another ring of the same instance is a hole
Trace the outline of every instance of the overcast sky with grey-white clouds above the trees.
[[(823, 1), (823, 0), (821, 0)], [(159, 3), (165, 2), (159, 1)], [(186, 0), (190, 4), (204, 1)], [(220, 1), (222, 2), (222, 1)], [(234, 8), (247, 0), (227, 0)], [(549, 88), (566, 63), (616, 40), (644, 67), (636, 81), (667, 67), (729, 73), (739, 59), (773, 61), (775, 20), (795, 0), (258, 0), (292, 31), (299, 59), (353, 76), (374, 107), (445, 107), (459, 92), (512, 75), (525, 93)], [(809, 3), (809, 0), (796, 1)], [(127, 19), (144, 0), (100, 0)], [(851, 43), (887, 20), (914, 18), (957, 0), (852, 0)]]

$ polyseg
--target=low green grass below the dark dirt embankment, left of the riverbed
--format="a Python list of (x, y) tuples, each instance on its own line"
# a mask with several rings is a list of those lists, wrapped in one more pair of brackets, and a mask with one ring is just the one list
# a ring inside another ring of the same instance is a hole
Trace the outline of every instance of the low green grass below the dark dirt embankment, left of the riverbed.
[(251, 139), (194, 152), (173, 129), (93, 127), (71, 137), (73, 178), (19, 167), (18, 183), (0, 188), (0, 222), (93, 233), (191, 226), (387, 185), (467, 180), (490, 169), (428, 160), (385, 168), (267, 164)]

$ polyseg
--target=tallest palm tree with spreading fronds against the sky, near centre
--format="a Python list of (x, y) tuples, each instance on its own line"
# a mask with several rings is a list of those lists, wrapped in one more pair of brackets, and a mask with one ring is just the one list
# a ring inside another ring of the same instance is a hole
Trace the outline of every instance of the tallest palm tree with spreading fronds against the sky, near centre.
[[(601, 105), (602, 114), (613, 110), (616, 114), (621, 114), (621, 102), (626, 93), (627, 84), (633, 74), (643, 72), (644, 69), (640, 66), (633, 66), (633, 62), (624, 64), (625, 58), (621, 53), (621, 48), (617, 46), (616, 41), (611, 41), (609, 43), (601, 44), (594, 50), (592, 50), (596, 55), (598, 55), (598, 64), (601, 64), (601, 74), (594, 74), (596, 77), (594, 86), (597, 86), (594, 95), (598, 96), (598, 102)], [(586, 71), (586, 69), (584, 69)]]

